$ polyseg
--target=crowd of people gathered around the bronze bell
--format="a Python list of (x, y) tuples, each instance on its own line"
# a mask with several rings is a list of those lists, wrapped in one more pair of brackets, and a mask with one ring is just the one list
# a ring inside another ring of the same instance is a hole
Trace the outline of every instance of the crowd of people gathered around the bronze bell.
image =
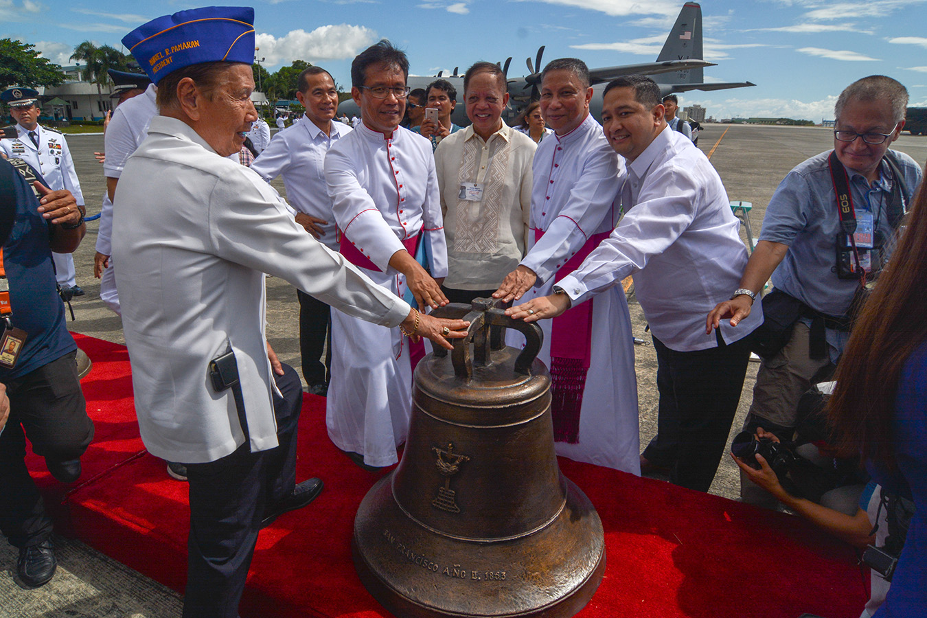
[[(184, 616), (235, 618), (260, 529), (322, 491), (295, 476), (301, 389), (264, 335), (268, 274), (297, 288), (303, 378), (326, 397), (332, 441), (367, 469), (398, 460), (423, 338), (450, 348), (466, 336), (466, 322), (429, 315), (449, 302), (492, 296), (513, 319), (541, 321), (558, 454), (663, 470), (699, 491), (726, 450), (752, 351), (751, 444), (794, 445), (801, 397), (836, 371), (824, 433), (879, 486), (860, 484), (840, 511), (800, 495), (788, 476), (800, 473), (781, 473), (772, 451), (742, 452), (743, 500), (781, 501), (880, 550), (888, 523), (882, 536), (867, 526), (894, 516), (879, 505), (908, 500), (893, 586), (873, 586), (863, 615), (922, 610), (927, 194), (920, 164), (889, 148), (904, 86), (870, 76), (844, 90), (833, 149), (781, 182), (751, 255), (676, 96), (647, 77), (608, 83), (600, 124), (589, 69), (553, 60), (540, 100), (510, 127), (502, 69), (477, 62), (462, 128), (453, 85), (410, 92), (407, 58), (384, 40), (352, 63), (352, 127), (338, 121), (332, 76), (311, 67), (298, 76), (304, 114), (271, 138), (250, 99), (253, 19), (200, 8), (130, 32), (146, 81), (121, 91), (105, 135), (95, 270), (121, 314), (146, 448), (189, 482)], [(4, 93), (19, 133), (0, 141), (11, 158), (0, 165), (0, 528), (30, 586), (55, 558), (25, 437), (67, 483), (93, 436), (57, 291), (73, 284), (56, 283), (52, 254), (83, 237), (83, 196), (64, 137), (37, 125), (36, 95)], [(658, 432), (642, 452), (629, 276), (657, 358)], [(68, 392), (55, 405), (52, 386)]]

